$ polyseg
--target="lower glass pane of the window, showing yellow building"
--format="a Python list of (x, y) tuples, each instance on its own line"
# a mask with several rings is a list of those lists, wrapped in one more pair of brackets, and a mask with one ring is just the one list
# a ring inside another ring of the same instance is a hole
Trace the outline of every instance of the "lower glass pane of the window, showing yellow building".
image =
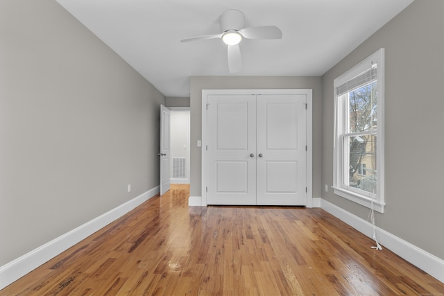
[[(345, 137), (348, 150), (348, 185), (376, 193), (376, 134)], [(347, 178), (345, 178), (347, 179)]]

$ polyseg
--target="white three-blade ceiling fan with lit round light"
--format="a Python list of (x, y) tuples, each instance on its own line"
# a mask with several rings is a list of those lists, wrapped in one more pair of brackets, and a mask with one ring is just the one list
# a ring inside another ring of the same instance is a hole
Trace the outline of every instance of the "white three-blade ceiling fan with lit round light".
[(230, 73), (241, 71), (242, 59), (239, 42), (246, 39), (281, 39), (282, 31), (277, 26), (255, 26), (244, 28), (245, 15), (240, 10), (226, 10), (221, 15), (222, 33), (203, 35), (180, 40), (180, 42), (221, 38), (228, 45), (228, 69)]

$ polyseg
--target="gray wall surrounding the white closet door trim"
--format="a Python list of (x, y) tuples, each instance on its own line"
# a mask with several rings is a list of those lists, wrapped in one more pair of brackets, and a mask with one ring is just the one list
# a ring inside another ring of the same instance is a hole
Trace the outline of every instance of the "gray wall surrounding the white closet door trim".
[[(296, 66), (295, 66), (296, 67)], [(321, 197), (322, 90), (321, 77), (194, 76), (191, 77), (190, 195), (201, 196), (202, 89), (313, 89), (313, 196)]]

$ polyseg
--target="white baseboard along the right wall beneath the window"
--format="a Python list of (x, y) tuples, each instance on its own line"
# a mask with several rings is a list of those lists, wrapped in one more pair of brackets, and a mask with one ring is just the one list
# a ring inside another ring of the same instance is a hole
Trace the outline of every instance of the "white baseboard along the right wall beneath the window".
[[(343, 220), (343, 222), (354, 227), (359, 232), (373, 238), (373, 225), (368, 221), (359, 218), (326, 200), (321, 200), (321, 207), (336, 218), (339, 218), (340, 220)], [(438, 279), (438, 281), (444, 283), (443, 259), (416, 247), (416, 245), (412, 245), (408, 241), (404, 241), (402, 238), (399, 238), (382, 228), (376, 227), (375, 229), (377, 241), (383, 245), (383, 247), (398, 254), (398, 256), (401, 256), (403, 259)]]

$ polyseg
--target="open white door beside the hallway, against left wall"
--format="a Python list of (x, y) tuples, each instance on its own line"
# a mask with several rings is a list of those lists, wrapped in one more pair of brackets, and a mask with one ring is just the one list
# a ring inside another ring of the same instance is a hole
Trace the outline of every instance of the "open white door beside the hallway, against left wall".
[(170, 117), (169, 109), (160, 105), (160, 195), (170, 187)]

